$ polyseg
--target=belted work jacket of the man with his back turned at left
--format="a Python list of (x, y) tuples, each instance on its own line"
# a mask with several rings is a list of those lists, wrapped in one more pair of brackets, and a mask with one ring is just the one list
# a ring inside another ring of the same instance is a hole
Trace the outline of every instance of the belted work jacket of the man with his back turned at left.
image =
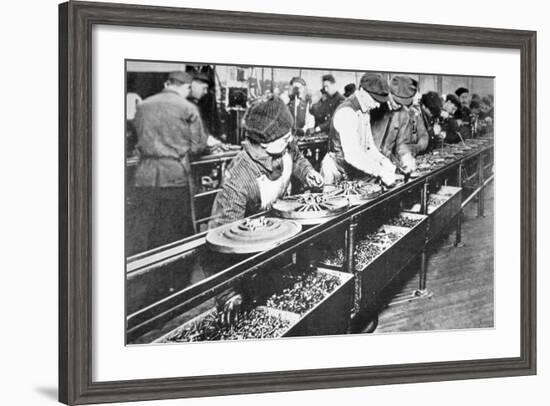
[(165, 89), (138, 105), (134, 125), (140, 156), (136, 186), (186, 186), (190, 161), (208, 138), (197, 106)]

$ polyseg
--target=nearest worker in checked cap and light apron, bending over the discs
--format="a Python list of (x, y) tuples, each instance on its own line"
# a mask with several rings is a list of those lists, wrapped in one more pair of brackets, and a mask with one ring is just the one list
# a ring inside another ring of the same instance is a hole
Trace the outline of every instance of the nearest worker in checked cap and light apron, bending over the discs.
[(269, 209), (286, 194), (292, 176), (308, 188), (323, 186), (292, 139), (294, 120), (279, 97), (257, 101), (243, 121), (247, 140), (225, 173), (209, 228)]

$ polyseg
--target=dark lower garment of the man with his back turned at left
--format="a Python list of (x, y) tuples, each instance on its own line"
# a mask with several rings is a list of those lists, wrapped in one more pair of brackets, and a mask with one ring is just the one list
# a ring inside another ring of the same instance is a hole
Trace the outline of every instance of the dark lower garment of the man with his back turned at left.
[(135, 187), (126, 217), (126, 255), (193, 234), (189, 187)]

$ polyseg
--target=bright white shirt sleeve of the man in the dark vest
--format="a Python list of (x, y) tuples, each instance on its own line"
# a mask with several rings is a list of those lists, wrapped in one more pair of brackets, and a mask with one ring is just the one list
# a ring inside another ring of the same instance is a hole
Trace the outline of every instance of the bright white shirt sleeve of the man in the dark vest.
[(344, 159), (365, 173), (379, 176), (385, 157), (374, 145), (367, 151), (360, 145), (357, 135), (358, 120), (357, 113), (348, 107), (341, 108), (334, 115), (334, 128), (340, 133)]

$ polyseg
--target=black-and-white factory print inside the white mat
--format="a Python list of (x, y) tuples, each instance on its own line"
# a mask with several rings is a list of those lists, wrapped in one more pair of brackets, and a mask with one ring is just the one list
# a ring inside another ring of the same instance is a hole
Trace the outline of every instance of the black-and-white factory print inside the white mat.
[(127, 345), (494, 327), (493, 77), (125, 79)]

